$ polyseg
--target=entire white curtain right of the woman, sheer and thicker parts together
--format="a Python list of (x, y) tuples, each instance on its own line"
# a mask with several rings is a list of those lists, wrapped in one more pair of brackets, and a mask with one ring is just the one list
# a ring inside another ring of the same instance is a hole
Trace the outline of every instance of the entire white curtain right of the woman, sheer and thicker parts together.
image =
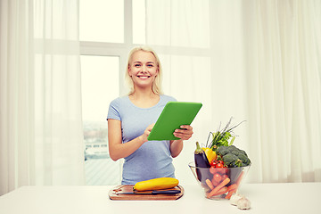
[(166, 94), (202, 102), (194, 135), (175, 160), (219, 124), (246, 120), (235, 145), (248, 152), (247, 182), (321, 181), (319, 1), (146, 0), (146, 42), (161, 55)]

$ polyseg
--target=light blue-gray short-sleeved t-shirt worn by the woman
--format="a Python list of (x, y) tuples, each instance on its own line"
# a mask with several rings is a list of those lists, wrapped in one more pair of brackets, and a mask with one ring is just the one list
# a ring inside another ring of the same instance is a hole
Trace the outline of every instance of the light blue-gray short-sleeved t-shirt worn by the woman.
[[(110, 104), (107, 119), (121, 121), (122, 143), (141, 136), (155, 123), (166, 103), (176, 101), (169, 95), (160, 95), (160, 101), (151, 108), (139, 108), (121, 96)], [(169, 141), (148, 141), (125, 158), (122, 185), (135, 185), (139, 181), (157, 177), (175, 177), (175, 169), (169, 151)]]

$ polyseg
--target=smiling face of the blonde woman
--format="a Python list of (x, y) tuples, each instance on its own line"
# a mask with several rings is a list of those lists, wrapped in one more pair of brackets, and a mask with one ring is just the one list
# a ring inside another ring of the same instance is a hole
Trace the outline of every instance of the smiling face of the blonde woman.
[(128, 74), (133, 79), (134, 86), (152, 86), (157, 73), (158, 65), (152, 53), (144, 51), (133, 53), (128, 65)]

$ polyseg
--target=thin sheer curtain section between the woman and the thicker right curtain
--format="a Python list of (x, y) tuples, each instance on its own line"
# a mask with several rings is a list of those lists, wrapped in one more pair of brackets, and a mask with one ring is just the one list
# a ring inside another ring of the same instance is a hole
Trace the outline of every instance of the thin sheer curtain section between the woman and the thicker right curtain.
[[(194, 183), (187, 166), (195, 142), (205, 145), (210, 132), (231, 117), (233, 124), (247, 118), (240, 7), (240, 1), (146, 1), (146, 43), (160, 55), (164, 93), (203, 104), (193, 120), (193, 137), (174, 159), (183, 183)], [(245, 130), (245, 125), (236, 130), (242, 137), (235, 144), (243, 148)]]

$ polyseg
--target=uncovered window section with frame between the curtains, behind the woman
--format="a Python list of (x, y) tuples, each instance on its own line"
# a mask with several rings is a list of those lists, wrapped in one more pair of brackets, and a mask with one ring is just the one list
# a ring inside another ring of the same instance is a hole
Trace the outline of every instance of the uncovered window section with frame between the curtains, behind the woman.
[(86, 185), (118, 185), (121, 161), (108, 154), (109, 104), (125, 94), (128, 51), (145, 43), (144, 0), (80, 0), (79, 39)]

